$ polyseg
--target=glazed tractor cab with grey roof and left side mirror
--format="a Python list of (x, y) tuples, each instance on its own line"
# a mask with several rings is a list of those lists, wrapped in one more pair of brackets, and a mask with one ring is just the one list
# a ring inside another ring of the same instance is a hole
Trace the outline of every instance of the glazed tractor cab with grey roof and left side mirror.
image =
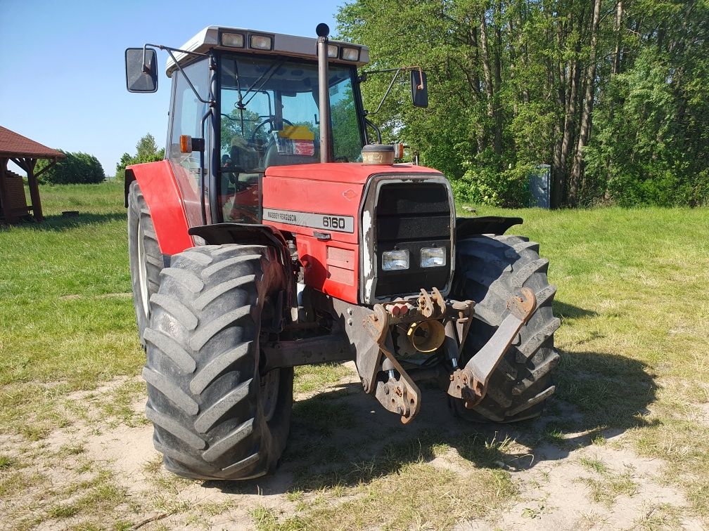
[[(172, 79), (167, 159), (191, 227), (260, 223), (269, 166), (357, 161), (367, 143), (357, 67), (366, 46), (328, 40), (328, 127), (321, 131), (318, 40), (209, 26), (180, 48), (126, 50), (129, 91)], [(323, 153), (322, 134), (327, 141)]]

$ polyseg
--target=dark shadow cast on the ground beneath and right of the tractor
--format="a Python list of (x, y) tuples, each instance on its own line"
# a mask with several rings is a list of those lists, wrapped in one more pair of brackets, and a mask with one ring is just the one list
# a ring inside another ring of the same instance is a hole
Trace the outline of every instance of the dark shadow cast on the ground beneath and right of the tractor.
[(560, 354), (557, 391), (540, 418), (469, 423), (453, 415), (445, 392), (422, 384), (421, 411), (403, 425), (359, 384), (337, 385), (295, 402), (291, 435), (276, 474), (204, 486), (266, 494), (356, 486), (413, 462), (431, 462), (442, 447), (476, 468), (521, 471), (564, 459), (599, 436), (647, 425), (639, 413), (654, 400), (657, 386), (642, 362), (608, 353)]

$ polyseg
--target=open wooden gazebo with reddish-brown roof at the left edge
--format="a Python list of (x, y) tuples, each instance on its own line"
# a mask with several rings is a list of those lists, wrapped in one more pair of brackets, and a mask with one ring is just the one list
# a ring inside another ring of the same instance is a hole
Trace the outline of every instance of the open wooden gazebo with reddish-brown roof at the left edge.
[[(30, 211), (37, 221), (44, 219), (37, 176), (64, 157), (65, 154), (56, 149), (43, 146), (39, 142), (0, 126), (0, 222), (17, 222), (18, 219), (29, 215)], [(52, 162), (35, 174), (35, 166), (39, 159), (48, 159)], [(29, 206), (25, 198), (22, 177), (8, 169), (9, 161), (13, 161), (27, 172), (32, 203)]]

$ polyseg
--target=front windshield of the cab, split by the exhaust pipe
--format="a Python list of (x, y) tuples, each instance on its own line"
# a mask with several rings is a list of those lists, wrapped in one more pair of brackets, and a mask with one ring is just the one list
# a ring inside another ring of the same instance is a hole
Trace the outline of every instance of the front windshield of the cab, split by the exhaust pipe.
[[(357, 161), (362, 133), (352, 67), (331, 64), (333, 161)], [(320, 161), (318, 65), (224, 55), (220, 62), (220, 206), (225, 220), (260, 222), (258, 183), (269, 166)]]

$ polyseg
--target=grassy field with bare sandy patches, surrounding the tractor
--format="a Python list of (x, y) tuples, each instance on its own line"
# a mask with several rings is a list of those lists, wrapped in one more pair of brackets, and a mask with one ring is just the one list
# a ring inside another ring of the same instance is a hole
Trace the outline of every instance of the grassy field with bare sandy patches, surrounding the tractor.
[[(404, 429), (347, 367), (302, 367), (284, 467), (223, 486), (169, 476), (154, 452), (125, 457), (152, 450), (122, 193), (122, 183), (44, 187), (43, 224), (0, 227), (0, 522), (439, 529), (514, 517), (545, 527), (564, 510), (554, 474), (573, 462), (568, 481), (587, 504), (576, 527), (623, 527), (614, 515), (635, 502), (626, 527), (709, 525), (709, 210), (480, 208), (524, 217), (510, 232), (539, 241), (551, 263), (562, 358), (545, 417), (471, 426), (445, 407), (427, 413), (425, 398)], [(661, 494), (619, 456), (657, 464)]]

